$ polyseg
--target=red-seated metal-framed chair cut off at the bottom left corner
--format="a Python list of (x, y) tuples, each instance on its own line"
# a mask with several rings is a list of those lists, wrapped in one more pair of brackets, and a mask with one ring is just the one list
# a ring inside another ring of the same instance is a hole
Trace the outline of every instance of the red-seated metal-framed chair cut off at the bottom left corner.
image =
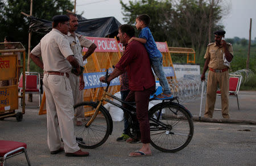
[(9, 159), (13, 156), (24, 153), (27, 159), (27, 164), (30, 164), (30, 160), (27, 155), (27, 144), (16, 141), (4, 141), (0, 140), (0, 164), (1, 166), (5, 165), (6, 159)]

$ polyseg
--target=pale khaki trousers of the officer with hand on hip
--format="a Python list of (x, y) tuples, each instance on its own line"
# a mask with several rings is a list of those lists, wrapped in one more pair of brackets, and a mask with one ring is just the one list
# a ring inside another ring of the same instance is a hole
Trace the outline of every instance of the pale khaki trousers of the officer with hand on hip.
[(47, 109), (47, 143), (50, 151), (59, 150), (61, 138), (65, 152), (80, 150), (74, 130), (73, 95), (69, 79), (64, 74), (48, 75), (43, 78)]

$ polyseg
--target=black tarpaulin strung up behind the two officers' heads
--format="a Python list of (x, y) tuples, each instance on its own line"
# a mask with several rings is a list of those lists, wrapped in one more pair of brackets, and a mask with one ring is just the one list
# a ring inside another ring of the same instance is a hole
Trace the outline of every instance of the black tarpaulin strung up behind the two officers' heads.
[[(92, 37), (113, 37), (118, 33), (121, 23), (114, 17), (79, 20), (77, 33)], [(52, 29), (52, 22), (30, 17), (30, 31), (46, 34)]]

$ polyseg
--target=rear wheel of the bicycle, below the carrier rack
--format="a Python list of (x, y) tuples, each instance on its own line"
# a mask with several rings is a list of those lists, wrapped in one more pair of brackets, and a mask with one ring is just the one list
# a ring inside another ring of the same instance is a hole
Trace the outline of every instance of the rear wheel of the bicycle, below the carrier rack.
[(189, 113), (177, 103), (159, 103), (150, 109), (151, 145), (163, 152), (176, 152), (188, 145), (193, 137)]

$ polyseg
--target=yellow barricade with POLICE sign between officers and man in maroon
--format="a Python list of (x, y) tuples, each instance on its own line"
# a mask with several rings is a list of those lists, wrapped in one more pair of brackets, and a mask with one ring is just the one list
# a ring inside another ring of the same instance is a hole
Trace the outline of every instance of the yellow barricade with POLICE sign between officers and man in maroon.
[[(100, 77), (105, 75), (105, 70), (112, 70), (112, 66), (116, 65), (121, 54), (119, 52), (117, 40), (114, 38), (104, 38), (104, 37), (86, 37), (86, 39), (94, 42), (97, 45), (96, 50), (92, 56), (87, 58), (87, 63), (85, 64), (84, 73), (84, 101), (96, 101), (98, 96), (101, 96), (103, 90), (100, 89)], [(87, 51), (87, 48), (83, 48), (83, 52)], [(115, 93), (120, 89), (119, 80), (112, 80), (109, 92)], [(104, 85), (102, 83), (102, 85)], [(105, 84), (106, 85), (106, 84)]]

